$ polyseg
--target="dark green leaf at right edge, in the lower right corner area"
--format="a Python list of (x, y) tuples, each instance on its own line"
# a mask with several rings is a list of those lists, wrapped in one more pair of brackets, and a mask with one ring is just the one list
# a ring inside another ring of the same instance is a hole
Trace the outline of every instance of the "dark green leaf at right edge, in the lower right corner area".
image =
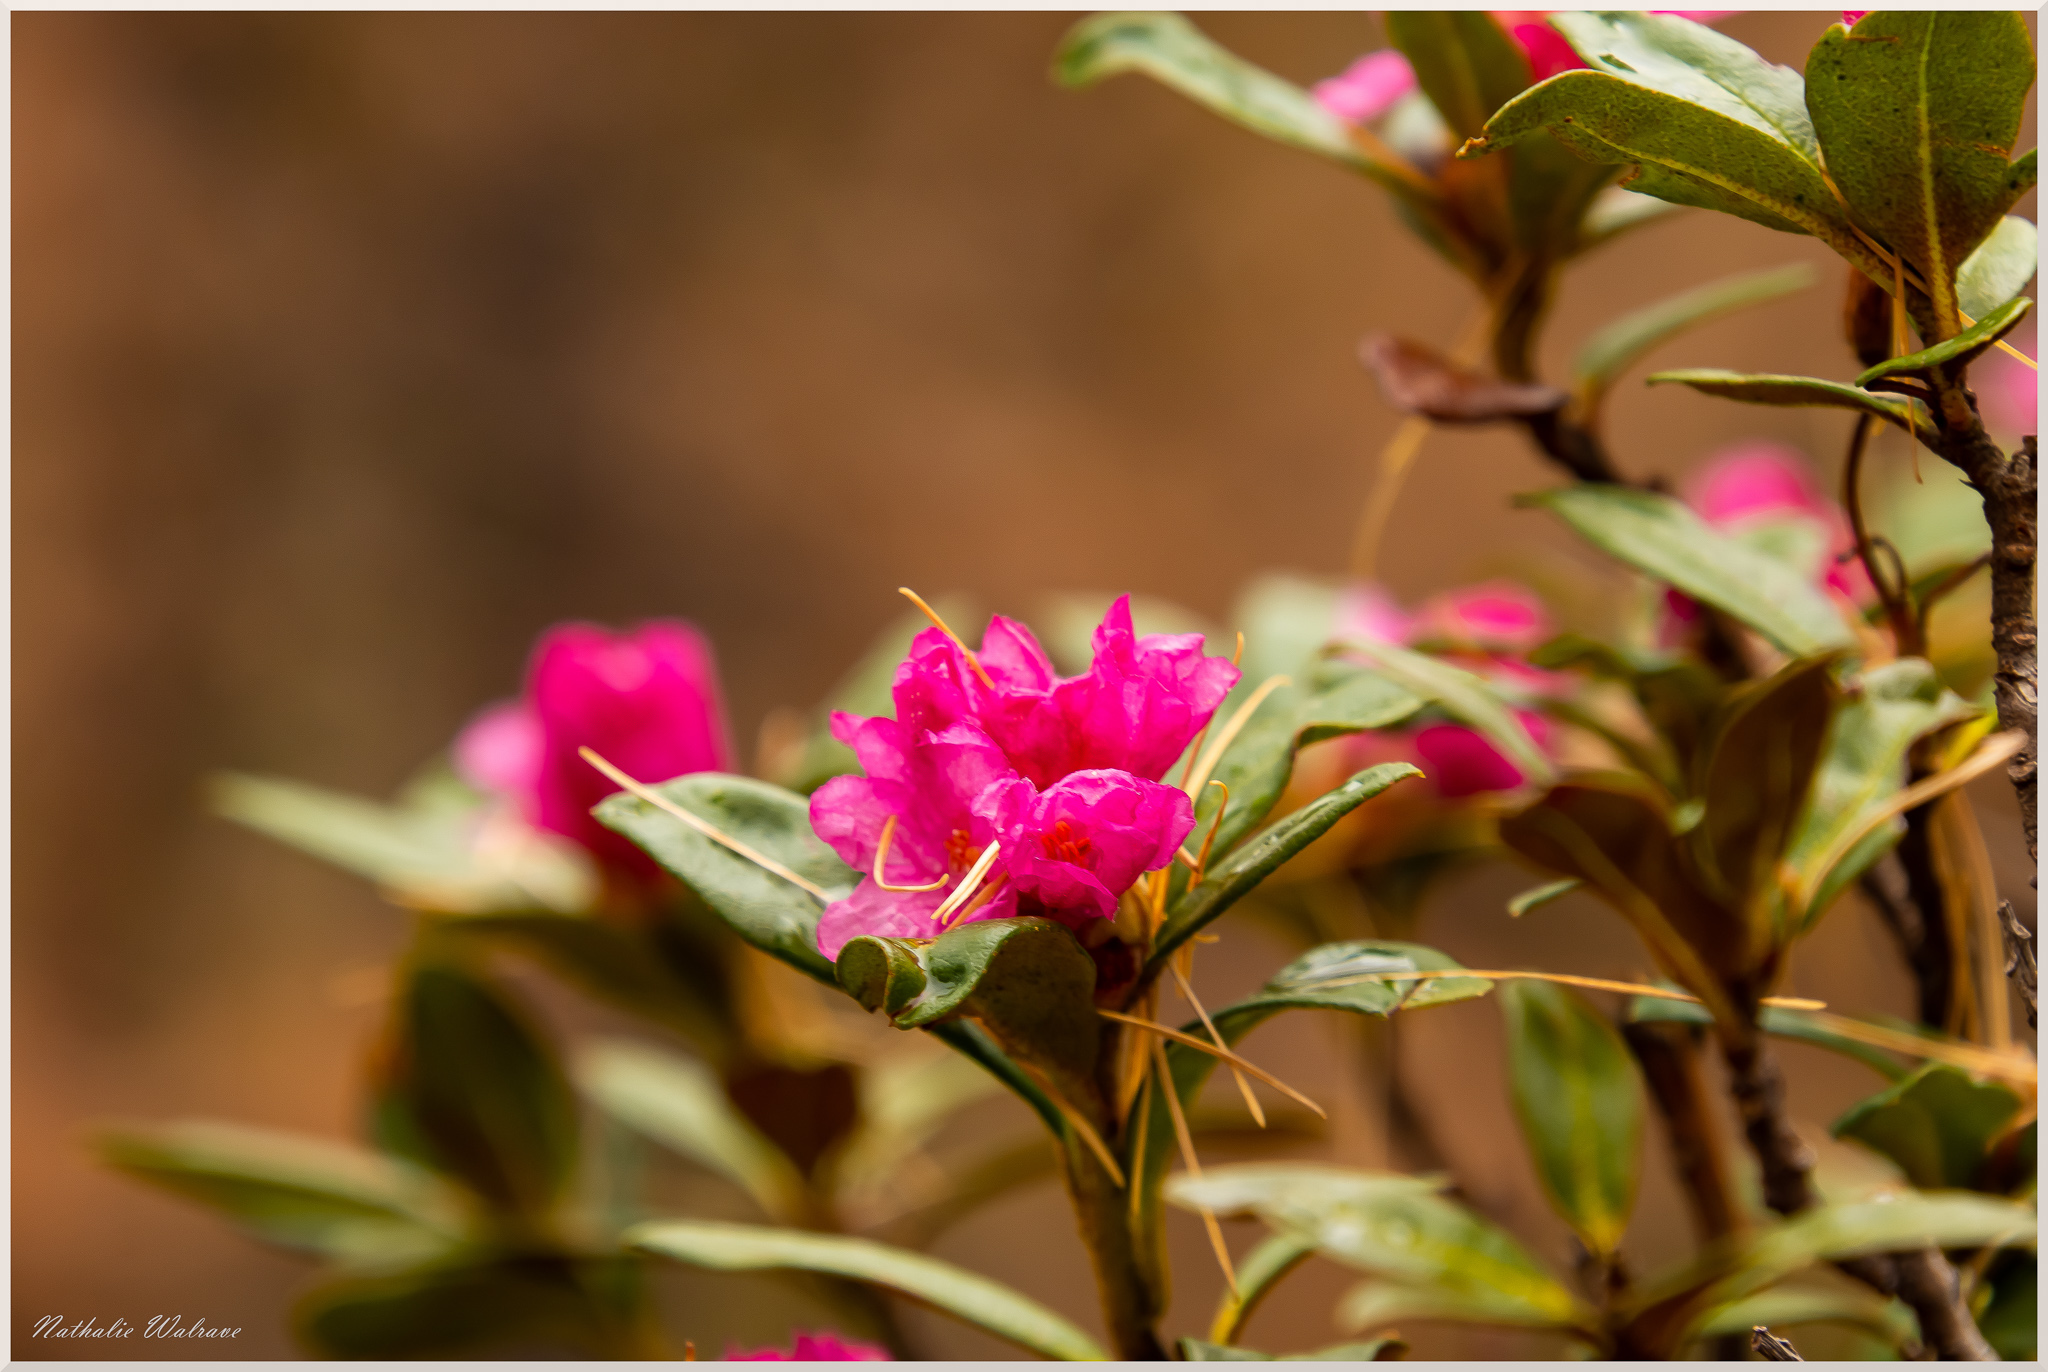
[(2003, 1081), (1972, 1081), (1964, 1071), (1927, 1063), (1851, 1106), (1831, 1132), (1892, 1159), (1921, 1190), (1968, 1188), (2019, 1106), (2019, 1094)]

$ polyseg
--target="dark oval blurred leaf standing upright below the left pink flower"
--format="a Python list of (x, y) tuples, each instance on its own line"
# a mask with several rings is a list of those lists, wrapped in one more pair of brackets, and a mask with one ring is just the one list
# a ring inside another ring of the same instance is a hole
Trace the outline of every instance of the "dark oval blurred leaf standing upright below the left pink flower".
[(385, 1091), (426, 1157), (494, 1204), (541, 1216), (567, 1186), (575, 1098), (526, 1016), (481, 977), (412, 969)]

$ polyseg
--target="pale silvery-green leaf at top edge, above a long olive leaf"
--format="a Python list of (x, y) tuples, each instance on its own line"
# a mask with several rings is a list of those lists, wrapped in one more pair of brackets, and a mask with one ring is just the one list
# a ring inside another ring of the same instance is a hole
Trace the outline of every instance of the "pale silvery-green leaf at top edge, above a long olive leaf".
[(1765, 133), (1819, 164), (1798, 72), (1677, 14), (1556, 10), (1550, 25), (1589, 68), (1677, 96)]

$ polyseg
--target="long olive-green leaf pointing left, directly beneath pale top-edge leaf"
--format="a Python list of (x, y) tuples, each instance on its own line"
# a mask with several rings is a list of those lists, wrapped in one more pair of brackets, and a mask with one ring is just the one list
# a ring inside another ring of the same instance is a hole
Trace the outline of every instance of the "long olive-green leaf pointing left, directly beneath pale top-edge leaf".
[(1622, 80), (1565, 72), (1524, 90), (1460, 156), (1481, 156), (1550, 133), (1587, 162), (1634, 164), (1622, 186), (1696, 205), (1786, 233), (1810, 233), (1876, 270), (1821, 178), (1821, 168), (1747, 119)]

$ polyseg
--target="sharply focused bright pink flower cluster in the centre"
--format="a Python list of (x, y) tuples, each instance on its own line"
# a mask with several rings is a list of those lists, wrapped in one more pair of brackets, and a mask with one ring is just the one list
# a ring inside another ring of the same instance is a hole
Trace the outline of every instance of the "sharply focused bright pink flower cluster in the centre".
[(866, 876), (817, 921), (827, 958), (864, 934), (934, 938), (1006, 915), (1079, 932), (1174, 860), (1194, 809), (1159, 778), (1237, 668), (1204, 657), (1200, 635), (1139, 637), (1128, 596), (1094, 649), (1061, 678), (1016, 620), (995, 616), (973, 655), (926, 629), (897, 668), (895, 719), (831, 717), (866, 776), (819, 786), (811, 827)]

